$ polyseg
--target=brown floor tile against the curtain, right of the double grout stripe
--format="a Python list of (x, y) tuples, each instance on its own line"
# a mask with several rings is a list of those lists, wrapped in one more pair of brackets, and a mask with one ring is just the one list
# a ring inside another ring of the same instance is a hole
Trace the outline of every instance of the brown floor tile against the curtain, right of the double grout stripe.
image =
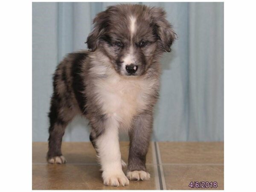
[(162, 163), (224, 163), (222, 142), (159, 142)]

